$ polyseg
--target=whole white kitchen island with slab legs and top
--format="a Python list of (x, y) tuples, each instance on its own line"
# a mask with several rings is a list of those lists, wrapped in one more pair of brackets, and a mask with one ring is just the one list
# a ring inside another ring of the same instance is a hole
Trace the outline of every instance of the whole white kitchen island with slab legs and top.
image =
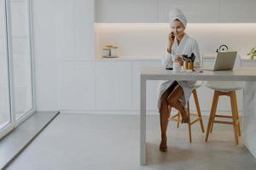
[(234, 71), (174, 72), (162, 66), (141, 68), (141, 111), (140, 111), (140, 163), (146, 164), (146, 89), (147, 81), (240, 81), (245, 82), (243, 96), (242, 138), (247, 149), (256, 157), (256, 68), (240, 67)]

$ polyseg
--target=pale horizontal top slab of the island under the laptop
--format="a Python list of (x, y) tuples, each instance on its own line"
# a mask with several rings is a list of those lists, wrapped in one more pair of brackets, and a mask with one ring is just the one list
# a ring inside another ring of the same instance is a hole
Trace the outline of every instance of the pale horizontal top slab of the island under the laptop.
[(234, 71), (174, 72), (168, 71), (162, 66), (143, 66), (141, 77), (150, 80), (256, 82), (256, 67), (240, 67)]

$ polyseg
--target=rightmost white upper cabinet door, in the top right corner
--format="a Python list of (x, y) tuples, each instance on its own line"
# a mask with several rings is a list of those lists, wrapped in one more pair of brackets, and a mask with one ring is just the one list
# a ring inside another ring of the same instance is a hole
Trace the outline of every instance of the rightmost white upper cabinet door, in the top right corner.
[(255, 0), (220, 0), (219, 22), (255, 23)]

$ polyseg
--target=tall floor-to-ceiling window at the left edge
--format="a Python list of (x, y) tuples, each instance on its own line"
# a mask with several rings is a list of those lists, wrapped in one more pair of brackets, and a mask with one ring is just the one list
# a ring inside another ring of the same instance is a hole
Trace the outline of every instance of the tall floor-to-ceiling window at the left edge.
[(0, 138), (35, 111), (29, 0), (0, 0)]

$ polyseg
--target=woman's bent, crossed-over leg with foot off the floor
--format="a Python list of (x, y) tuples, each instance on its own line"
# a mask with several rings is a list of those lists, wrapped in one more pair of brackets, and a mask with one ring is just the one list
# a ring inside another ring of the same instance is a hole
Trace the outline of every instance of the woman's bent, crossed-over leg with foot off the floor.
[(168, 104), (180, 111), (181, 116), (183, 118), (182, 122), (189, 122), (189, 116), (185, 111), (182, 103), (178, 100), (183, 95), (183, 88), (180, 85), (177, 85), (176, 88), (172, 91), (172, 93), (168, 96), (167, 101)]

